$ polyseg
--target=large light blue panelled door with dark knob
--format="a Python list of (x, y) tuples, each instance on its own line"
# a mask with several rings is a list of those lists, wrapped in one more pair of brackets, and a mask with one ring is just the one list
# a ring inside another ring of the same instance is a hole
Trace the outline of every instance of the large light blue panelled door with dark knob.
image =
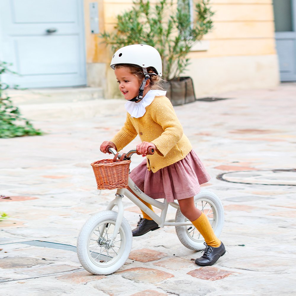
[(21, 87), (86, 85), (83, 0), (0, 0), (0, 59)]

